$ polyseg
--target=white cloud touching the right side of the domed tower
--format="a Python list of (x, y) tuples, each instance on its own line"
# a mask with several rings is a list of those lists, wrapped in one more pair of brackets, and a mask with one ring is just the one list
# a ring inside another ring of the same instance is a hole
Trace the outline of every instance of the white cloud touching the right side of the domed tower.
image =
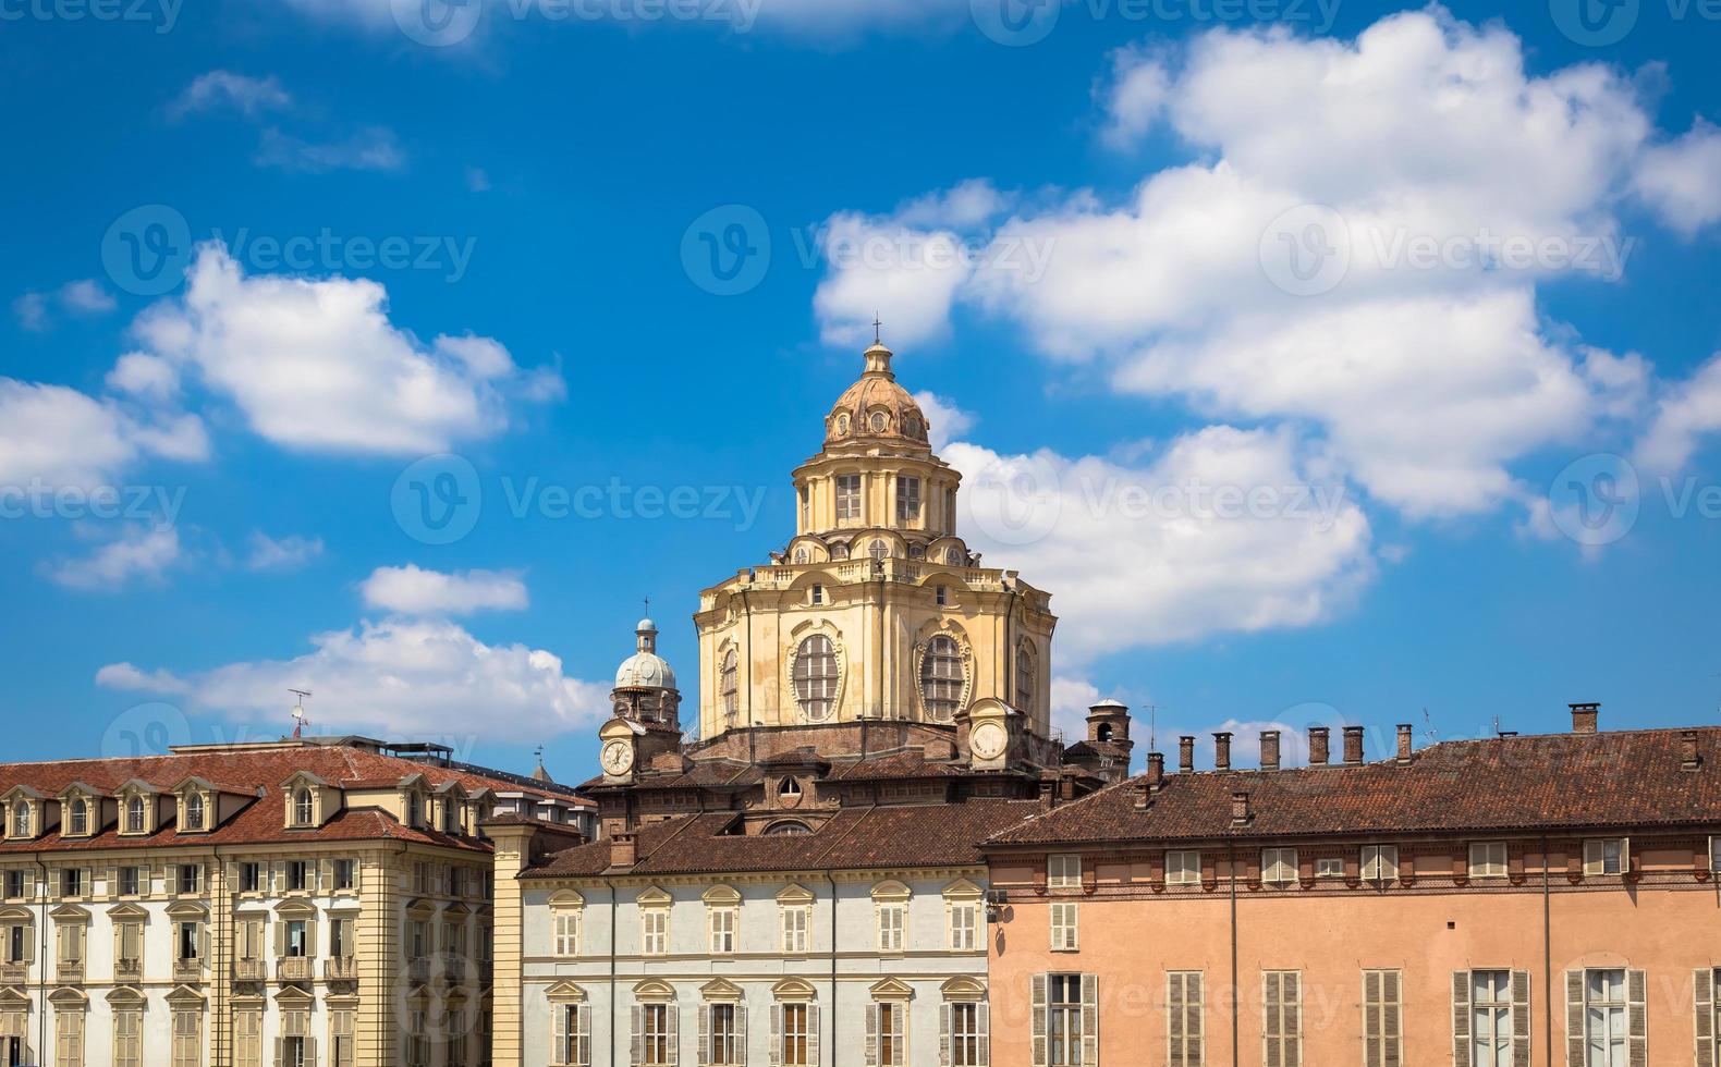
[(969, 544), (1055, 590), (1067, 666), (1323, 621), (1375, 570), (1363, 511), (1287, 430), (1208, 427), (1141, 466), (965, 442), (943, 456)]

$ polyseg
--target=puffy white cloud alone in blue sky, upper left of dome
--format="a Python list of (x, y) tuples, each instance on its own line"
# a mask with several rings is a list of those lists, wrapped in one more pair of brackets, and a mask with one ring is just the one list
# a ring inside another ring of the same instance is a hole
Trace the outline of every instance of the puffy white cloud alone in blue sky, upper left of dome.
[(134, 329), (289, 449), (446, 451), (506, 429), (509, 396), (552, 399), (544, 372), (521, 372), (489, 337), (425, 346), (394, 327), (377, 282), (246, 275), (219, 243), (198, 251), (184, 294)]

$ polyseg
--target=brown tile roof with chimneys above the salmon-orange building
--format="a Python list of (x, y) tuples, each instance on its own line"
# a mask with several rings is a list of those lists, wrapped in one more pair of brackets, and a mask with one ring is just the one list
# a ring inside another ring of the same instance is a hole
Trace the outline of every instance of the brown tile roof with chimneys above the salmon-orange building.
[[(1440, 742), (1409, 766), (1167, 774), (1146, 811), (1136, 807), (1144, 780), (1136, 776), (1005, 830), (988, 845), (1721, 824), (1721, 728), (1697, 730), (1704, 754), (1697, 771), (1680, 766), (1681, 733)], [(1244, 790), (1253, 821), (1234, 828), (1231, 795)]]

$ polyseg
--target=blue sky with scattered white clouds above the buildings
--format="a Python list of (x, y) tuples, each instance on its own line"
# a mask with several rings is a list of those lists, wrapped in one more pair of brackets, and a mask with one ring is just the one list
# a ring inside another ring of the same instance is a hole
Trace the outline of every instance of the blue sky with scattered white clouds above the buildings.
[(874, 310), (1064, 721), (1714, 719), (1716, 12), (470, 3), (0, 2), (7, 757), (583, 778)]

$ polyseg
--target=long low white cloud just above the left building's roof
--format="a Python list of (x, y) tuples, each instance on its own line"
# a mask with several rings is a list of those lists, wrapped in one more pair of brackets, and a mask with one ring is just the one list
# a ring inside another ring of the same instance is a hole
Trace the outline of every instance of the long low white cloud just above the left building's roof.
[(189, 711), (246, 723), (282, 719), (287, 688), (317, 694), (313, 719), (330, 733), (542, 740), (589, 730), (609, 712), (609, 687), (563, 673), (527, 645), (489, 645), (446, 620), (386, 618), (310, 638), (293, 659), (229, 663), (208, 671), (145, 673), (124, 663), (96, 673), (110, 688), (174, 694)]

